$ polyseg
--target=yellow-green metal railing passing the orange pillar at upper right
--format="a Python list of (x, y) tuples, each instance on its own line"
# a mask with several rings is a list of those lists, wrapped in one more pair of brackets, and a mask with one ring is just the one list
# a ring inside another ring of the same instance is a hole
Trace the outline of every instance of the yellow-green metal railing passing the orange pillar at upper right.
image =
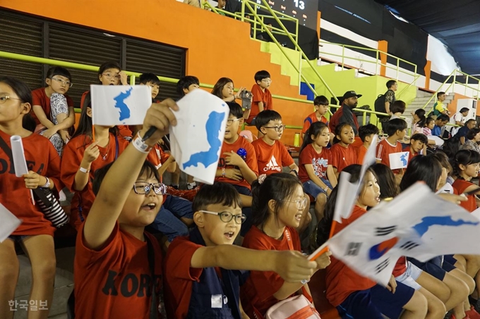
[[(341, 64), (342, 68), (344, 68), (344, 66), (345, 66), (345, 59), (349, 59), (349, 60), (359, 61), (359, 62), (362, 62), (362, 63), (375, 64), (375, 74), (374, 75), (380, 75), (381, 68), (385, 67), (385, 68), (388, 68), (390, 70), (395, 70), (396, 71), (395, 80), (397, 80), (397, 81), (399, 80), (399, 77), (400, 77), (401, 73), (403, 73), (405, 75), (408, 75), (408, 76), (411, 76), (412, 77), (412, 82), (409, 82), (409, 85), (407, 87), (404, 87), (404, 89), (402, 89), (401, 92), (398, 92), (397, 97), (401, 96), (404, 92), (406, 92), (407, 89), (409, 89), (409, 87), (412, 87), (412, 85), (415, 85), (416, 80), (418, 80), (419, 77), (420, 77), (420, 75), (416, 72), (417, 71), (416, 64), (414, 64), (412, 62), (409, 62), (409, 61), (406, 61), (402, 58), (398, 58), (397, 56), (389, 54), (388, 52), (380, 51), (378, 49), (365, 48), (365, 47), (361, 47), (361, 46), (352, 46), (352, 45), (347, 45), (347, 44), (332, 43), (332, 42), (325, 42), (325, 41), (320, 41), (320, 44), (324, 44), (325, 46), (326, 45), (332, 45), (332, 46), (341, 46), (342, 47), (342, 54), (334, 54), (334, 53), (327, 52), (327, 51), (321, 51), (320, 52), (320, 54), (325, 54), (325, 55), (329, 55), (329, 56), (336, 56), (336, 57), (342, 58), (341, 61), (337, 61), (337, 63), (340, 63), (340, 62), (342, 63)], [(373, 61), (373, 60), (367, 60), (366, 58), (356, 58), (354, 56), (345, 56), (345, 49), (355, 49), (355, 50), (361, 50), (361, 51), (375, 52), (376, 58)], [(382, 63), (381, 58), (380, 58), (381, 55), (390, 56), (391, 58), (394, 58), (397, 61), (397, 63), (395, 64), (395, 66), (389, 65), (388, 63)], [(400, 62), (406, 63), (408, 65), (412, 65), (412, 67), (414, 68), (414, 71), (412, 72), (412, 71), (409, 71), (409, 70), (405, 70), (404, 68), (400, 68)], [(348, 66), (351, 66), (351, 65), (348, 65)], [(366, 72), (369, 72), (369, 71), (366, 71)]]

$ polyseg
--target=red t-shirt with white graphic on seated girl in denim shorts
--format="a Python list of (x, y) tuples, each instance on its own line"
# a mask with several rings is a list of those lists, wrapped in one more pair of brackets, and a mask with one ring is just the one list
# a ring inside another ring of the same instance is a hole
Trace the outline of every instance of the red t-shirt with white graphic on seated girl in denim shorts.
[(322, 147), (322, 151), (317, 153), (312, 144), (308, 144), (303, 149), (299, 156), (299, 179), (302, 183), (310, 180), (308, 173), (306, 173), (305, 165), (311, 164), (313, 166), (313, 172), (319, 178), (328, 180), (327, 168), (330, 163), (330, 150)]

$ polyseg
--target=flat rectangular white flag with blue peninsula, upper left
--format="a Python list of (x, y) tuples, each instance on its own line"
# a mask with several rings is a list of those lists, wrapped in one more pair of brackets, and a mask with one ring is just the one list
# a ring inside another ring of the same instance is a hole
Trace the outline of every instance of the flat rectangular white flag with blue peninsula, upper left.
[(94, 125), (140, 125), (152, 105), (148, 85), (90, 85)]

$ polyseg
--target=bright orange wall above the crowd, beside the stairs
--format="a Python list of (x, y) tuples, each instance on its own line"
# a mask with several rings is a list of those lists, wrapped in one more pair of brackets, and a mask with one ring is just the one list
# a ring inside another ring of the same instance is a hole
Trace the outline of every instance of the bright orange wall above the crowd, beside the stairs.
[[(188, 49), (186, 70), (200, 82), (215, 84), (231, 77), (236, 87), (254, 83), (258, 70), (268, 70), (272, 94), (301, 97), (299, 88), (280, 75), (280, 65), (270, 63), (270, 54), (260, 52), (260, 42), (251, 40), (247, 23), (194, 8), (175, 0), (43, 1), (2, 0), (0, 6), (45, 18), (85, 25), (123, 35), (150, 39)], [(308, 104), (274, 99), (274, 108), (287, 125), (302, 125), (313, 111)], [(286, 130), (282, 142), (293, 144), (296, 131)]]

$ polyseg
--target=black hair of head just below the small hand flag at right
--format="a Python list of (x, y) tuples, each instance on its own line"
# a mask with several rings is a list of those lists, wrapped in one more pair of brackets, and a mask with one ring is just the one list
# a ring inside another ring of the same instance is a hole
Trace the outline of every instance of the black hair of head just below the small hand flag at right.
[(400, 182), (400, 190), (403, 192), (418, 181), (423, 181), (430, 187), (432, 192), (436, 192), (438, 179), (442, 175), (442, 165), (438, 159), (433, 156), (414, 156), (408, 163), (407, 170)]

